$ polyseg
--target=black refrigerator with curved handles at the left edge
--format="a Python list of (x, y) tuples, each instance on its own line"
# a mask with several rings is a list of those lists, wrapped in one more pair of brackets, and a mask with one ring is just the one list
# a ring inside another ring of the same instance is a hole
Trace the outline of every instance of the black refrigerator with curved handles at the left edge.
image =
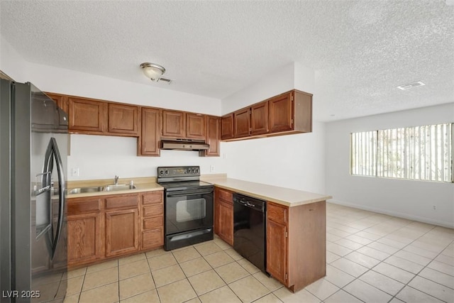
[(0, 301), (62, 302), (67, 114), (29, 82), (0, 81)]

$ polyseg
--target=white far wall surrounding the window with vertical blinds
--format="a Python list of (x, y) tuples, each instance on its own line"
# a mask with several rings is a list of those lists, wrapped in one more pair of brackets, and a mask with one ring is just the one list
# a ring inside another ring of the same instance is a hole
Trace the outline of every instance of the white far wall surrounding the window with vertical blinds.
[[(350, 175), (350, 133), (454, 121), (454, 103), (326, 124), (326, 191), (333, 202), (454, 227), (454, 184)], [(436, 210), (433, 210), (433, 206)]]

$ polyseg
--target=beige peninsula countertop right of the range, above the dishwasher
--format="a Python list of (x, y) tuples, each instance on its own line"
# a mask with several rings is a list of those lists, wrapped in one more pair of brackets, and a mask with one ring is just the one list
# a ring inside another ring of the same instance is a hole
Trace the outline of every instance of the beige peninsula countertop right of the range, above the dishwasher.
[(214, 184), (217, 187), (246, 194), (250, 197), (264, 199), (285, 206), (298, 206), (314, 202), (326, 201), (331, 196), (326, 194), (316, 194), (314, 192), (304, 192), (302, 190), (277, 187), (262, 183), (248, 182), (228, 177), (201, 176), (200, 180)]

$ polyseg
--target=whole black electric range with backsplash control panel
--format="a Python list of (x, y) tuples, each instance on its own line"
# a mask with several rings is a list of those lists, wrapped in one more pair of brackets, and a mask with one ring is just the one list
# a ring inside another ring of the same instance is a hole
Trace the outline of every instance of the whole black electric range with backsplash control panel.
[(165, 250), (213, 239), (214, 186), (199, 178), (199, 166), (157, 167), (165, 197)]

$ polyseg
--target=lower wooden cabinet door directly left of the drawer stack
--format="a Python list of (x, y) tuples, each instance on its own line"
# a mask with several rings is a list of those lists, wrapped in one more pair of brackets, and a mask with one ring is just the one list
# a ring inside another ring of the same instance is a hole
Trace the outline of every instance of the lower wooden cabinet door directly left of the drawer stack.
[(106, 256), (138, 250), (138, 227), (138, 209), (106, 211)]

